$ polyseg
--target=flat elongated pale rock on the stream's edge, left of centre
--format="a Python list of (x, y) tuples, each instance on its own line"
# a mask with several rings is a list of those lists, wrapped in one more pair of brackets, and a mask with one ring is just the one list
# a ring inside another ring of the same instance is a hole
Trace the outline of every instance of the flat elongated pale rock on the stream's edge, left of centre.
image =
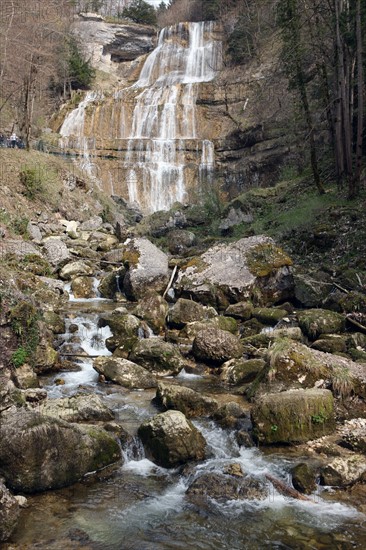
[(97, 357), (93, 362), (93, 367), (99, 374), (103, 374), (106, 380), (124, 388), (147, 389), (157, 386), (155, 376), (144, 367), (128, 359)]

